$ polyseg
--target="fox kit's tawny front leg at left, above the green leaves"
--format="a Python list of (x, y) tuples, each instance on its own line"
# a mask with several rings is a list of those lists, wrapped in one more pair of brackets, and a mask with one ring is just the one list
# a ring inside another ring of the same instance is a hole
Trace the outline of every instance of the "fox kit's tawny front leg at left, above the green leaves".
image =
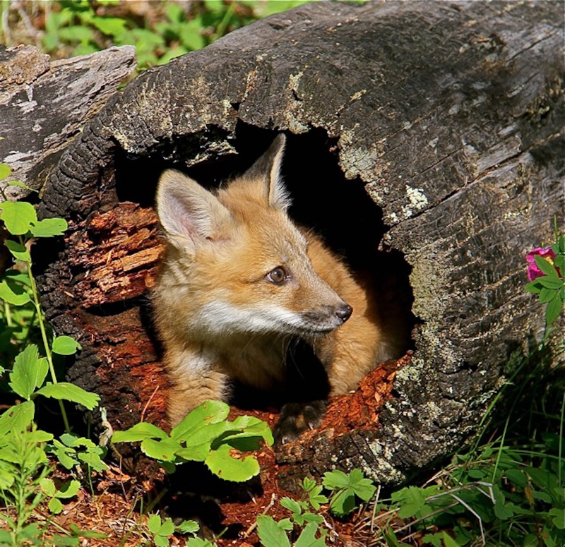
[(169, 368), (168, 415), (176, 426), (186, 414), (206, 401), (226, 400), (228, 377), (196, 351), (170, 351), (165, 356)]

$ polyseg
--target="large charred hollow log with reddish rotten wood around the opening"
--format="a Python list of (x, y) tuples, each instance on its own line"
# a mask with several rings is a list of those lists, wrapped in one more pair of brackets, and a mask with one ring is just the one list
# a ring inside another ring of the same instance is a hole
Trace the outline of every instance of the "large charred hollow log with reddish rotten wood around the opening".
[(405, 358), (283, 447), (281, 483), (333, 467), (398, 483), (449, 455), (542, 332), (524, 254), (563, 225), (562, 43), (558, 2), (319, 2), (138, 76), (42, 196), (42, 215), (71, 222), (57, 258), (41, 253), (49, 319), (83, 346), (69, 378), (114, 428), (162, 425), (157, 177), (217, 185), (285, 131), (292, 214), (353, 266), (390, 260), (415, 327)]

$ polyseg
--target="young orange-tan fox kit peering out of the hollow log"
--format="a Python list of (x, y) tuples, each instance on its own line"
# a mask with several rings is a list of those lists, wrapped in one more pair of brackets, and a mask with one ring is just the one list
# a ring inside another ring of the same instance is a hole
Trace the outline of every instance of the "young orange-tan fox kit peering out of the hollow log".
[[(172, 382), (172, 425), (204, 401), (229, 400), (234, 381), (292, 394), (286, 356), (297, 338), (323, 365), (326, 395), (355, 389), (377, 363), (405, 349), (383, 326), (366, 285), (290, 220), (280, 176), (284, 148), (280, 134), (215, 193), (178, 171), (160, 177), (157, 214), (167, 251), (153, 305)], [(323, 400), (290, 397), (278, 442), (319, 426), (324, 410)]]

